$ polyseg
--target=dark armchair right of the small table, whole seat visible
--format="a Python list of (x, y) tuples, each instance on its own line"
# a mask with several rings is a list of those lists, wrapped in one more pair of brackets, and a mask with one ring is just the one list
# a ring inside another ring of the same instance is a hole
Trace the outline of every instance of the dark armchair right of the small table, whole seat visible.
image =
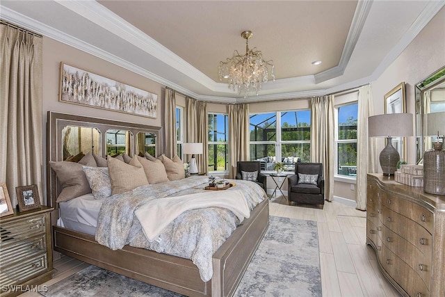
[[(298, 173), (306, 175), (304, 180), (300, 180)], [(312, 175), (312, 179), (311, 179)], [(317, 178), (314, 179), (314, 175)], [(296, 163), (295, 175), (287, 179), (288, 202), (292, 201), (308, 204), (325, 204), (325, 179), (323, 178), (322, 163)]]

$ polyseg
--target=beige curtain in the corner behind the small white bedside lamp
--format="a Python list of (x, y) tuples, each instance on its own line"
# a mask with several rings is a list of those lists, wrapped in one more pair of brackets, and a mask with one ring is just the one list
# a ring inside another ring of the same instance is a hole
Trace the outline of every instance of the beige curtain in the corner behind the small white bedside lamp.
[[(197, 101), (191, 97), (186, 97), (186, 131), (187, 143), (202, 143), (203, 152), (195, 156), (199, 172), (207, 174), (209, 168), (209, 140), (208, 140), (208, 122), (207, 103)], [(189, 161), (191, 156), (184, 156)]]

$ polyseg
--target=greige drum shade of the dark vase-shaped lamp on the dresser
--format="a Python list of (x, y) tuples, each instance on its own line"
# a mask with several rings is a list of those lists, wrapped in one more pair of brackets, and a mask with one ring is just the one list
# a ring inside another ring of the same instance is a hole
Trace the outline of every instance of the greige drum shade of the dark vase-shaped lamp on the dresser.
[(389, 113), (368, 118), (369, 137), (413, 136), (412, 113)]

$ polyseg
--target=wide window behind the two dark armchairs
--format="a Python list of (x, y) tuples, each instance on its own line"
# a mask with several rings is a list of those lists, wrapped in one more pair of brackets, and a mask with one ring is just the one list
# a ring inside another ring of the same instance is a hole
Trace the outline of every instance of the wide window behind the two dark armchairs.
[(261, 162), (261, 170), (294, 171), (295, 163), (310, 161), (311, 111), (278, 111), (250, 115), (250, 159)]

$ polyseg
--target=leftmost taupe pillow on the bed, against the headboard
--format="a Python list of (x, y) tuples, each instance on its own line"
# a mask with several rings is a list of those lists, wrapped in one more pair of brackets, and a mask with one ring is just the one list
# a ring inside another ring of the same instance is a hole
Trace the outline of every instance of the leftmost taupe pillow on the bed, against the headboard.
[(62, 186), (62, 191), (60, 191), (56, 200), (57, 202), (68, 201), (91, 193), (82, 164), (68, 161), (49, 161), (49, 165), (56, 172), (58, 182)]

